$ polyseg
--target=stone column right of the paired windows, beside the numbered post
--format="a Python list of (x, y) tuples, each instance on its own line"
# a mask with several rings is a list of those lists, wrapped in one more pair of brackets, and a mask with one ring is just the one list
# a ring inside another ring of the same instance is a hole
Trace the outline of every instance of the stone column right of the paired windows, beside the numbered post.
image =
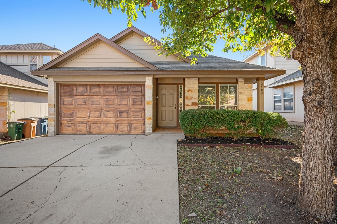
[(238, 78), (238, 109), (253, 109), (253, 85), (245, 84), (244, 78)]

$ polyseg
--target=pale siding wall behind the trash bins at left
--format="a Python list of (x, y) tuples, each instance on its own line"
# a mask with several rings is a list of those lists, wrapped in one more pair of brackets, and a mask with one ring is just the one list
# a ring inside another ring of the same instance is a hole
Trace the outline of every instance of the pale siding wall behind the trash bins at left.
[(11, 97), (10, 110), (15, 111), (11, 120), (48, 115), (47, 93), (19, 89), (9, 89), (8, 91)]

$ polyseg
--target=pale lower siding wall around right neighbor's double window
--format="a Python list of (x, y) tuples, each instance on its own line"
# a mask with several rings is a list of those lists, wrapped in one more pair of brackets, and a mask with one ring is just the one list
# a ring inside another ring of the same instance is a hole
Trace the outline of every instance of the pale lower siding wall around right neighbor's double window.
[[(287, 121), (304, 122), (304, 105), (302, 102), (303, 95), (303, 81), (296, 83), (289, 83), (275, 88), (282, 88), (293, 85), (294, 86), (294, 112), (278, 112)], [(265, 87), (265, 111), (274, 112), (274, 88)], [(253, 90), (253, 110), (256, 110), (256, 89)]]

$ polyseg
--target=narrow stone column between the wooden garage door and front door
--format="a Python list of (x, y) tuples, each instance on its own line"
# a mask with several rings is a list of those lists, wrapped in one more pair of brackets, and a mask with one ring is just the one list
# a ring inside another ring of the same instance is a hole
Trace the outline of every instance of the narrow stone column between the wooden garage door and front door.
[(153, 132), (153, 78), (146, 77), (145, 83), (145, 134), (150, 135)]

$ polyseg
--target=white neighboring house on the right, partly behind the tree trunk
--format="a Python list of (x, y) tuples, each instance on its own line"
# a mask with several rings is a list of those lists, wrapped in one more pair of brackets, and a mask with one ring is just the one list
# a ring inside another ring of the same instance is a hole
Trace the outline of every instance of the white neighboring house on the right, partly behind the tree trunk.
[[(299, 62), (282, 56), (272, 57), (267, 50), (264, 55), (254, 52), (243, 61), (286, 70), (284, 75), (265, 81), (265, 111), (280, 113), (289, 124), (303, 125), (303, 76), (299, 70)], [(256, 101), (257, 92), (257, 86), (254, 84), (253, 102)], [(253, 110), (256, 110), (254, 104)]]

